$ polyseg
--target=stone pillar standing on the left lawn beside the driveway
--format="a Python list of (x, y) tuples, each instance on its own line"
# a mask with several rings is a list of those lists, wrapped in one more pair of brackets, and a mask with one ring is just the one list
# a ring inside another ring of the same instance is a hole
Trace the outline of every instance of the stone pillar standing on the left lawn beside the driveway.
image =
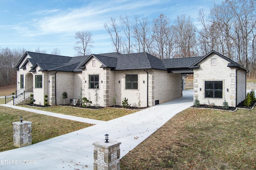
[(32, 144), (31, 121), (13, 122), (13, 145), (24, 147)]

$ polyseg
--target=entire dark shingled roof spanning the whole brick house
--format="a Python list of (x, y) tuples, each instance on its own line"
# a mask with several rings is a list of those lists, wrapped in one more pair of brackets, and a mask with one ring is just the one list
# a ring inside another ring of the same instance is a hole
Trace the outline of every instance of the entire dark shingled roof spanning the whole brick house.
[[(84, 66), (92, 57), (95, 57), (102, 65), (101, 68), (111, 68), (112, 70), (139, 70), (139, 69), (155, 69), (155, 70), (173, 70), (173, 69), (192, 69), (199, 67), (199, 63), (208, 57), (210, 54), (216, 53), (211, 51), (204, 57), (188, 57), (188, 58), (175, 58), (175, 59), (159, 59), (148, 53), (132, 53), (132, 54), (120, 54), (120, 53), (104, 53), (104, 54), (92, 54), (87, 56), (67, 57), (60, 55), (50, 55), (34, 52), (26, 52), (22, 59), (15, 67), (15, 69), (24, 68), (28, 62), (32, 63), (30, 71), (36, 69), (39, 66), (40, 71), (66, 71), (66, 72), (81, 72)], [(244, 70), (238, 63), (216, 53), (220, 57), (228, 60), (230, 67), (239, 67)], [(20, 67), (20, 64), (28, 58), (24, 64)]]

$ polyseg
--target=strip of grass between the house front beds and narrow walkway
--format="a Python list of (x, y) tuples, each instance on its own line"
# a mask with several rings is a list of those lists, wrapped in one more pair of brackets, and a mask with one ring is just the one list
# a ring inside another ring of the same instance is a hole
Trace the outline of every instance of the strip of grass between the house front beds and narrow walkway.
[(118, 117), (122, 117), (124, 115), (128, 115), (138, 111), (138, 110), (113, 109), (113, 108), (84, 109), (84, 108), (66, 107), (66, 106), (52, 106), (52, 107), (40, 108), (40, 107), (30, 107), (30, 106), (22, 105), (22, 107), (28, 107), (28, 108), (38, 109), (38, 110), (50, 111), (53, 113), (61, 113), (65, 115), (85, 117), (89, 119), (96, 119), (96, 120), (102, 120), (102, 121), (109, 121), (109, 120), (116, 119)]

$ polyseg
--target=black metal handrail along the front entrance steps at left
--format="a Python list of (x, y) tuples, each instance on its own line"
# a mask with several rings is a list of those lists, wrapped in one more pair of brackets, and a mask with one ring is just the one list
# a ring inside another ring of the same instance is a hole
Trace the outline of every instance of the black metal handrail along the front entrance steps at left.
[(8, 96), (5, 96), (5, 104), (10, 102), (11, 100), (13, 100), (12, 102), (14, 105), (14, 104), (18, 103), (20, 100), (23, 100), (24, 98), (30, 96), (30, 94), (33, 93), (33, 87), (26, 91), (24, 89), (16, 90), (14, 93), (12, 93)]

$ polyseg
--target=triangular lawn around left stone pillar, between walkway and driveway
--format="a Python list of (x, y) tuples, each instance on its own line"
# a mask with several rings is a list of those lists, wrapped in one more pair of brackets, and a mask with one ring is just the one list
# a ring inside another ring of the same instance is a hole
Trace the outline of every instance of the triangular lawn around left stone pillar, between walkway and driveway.
[(92, 125), (0, 106), (0, 152), (15, 149), (12, 122), (20, 121), (20, 116), (32, 121), (32, 144)]

